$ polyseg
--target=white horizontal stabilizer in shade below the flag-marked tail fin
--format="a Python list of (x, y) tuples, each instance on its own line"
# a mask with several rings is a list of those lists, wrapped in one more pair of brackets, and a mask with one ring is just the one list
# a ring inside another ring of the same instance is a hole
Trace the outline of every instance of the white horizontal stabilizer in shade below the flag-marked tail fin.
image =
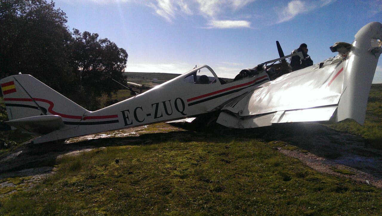
[(40, 135), (44, 135), (64, 127), (64, 122), (59, 115), (38, 115), (10, 120), (5, 123), (12, 127)]

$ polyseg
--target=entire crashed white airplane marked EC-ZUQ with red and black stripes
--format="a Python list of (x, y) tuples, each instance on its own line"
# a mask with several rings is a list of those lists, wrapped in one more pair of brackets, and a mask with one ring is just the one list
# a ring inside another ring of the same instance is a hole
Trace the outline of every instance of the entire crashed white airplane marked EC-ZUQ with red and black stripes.
[(219, 112), (217, 123), (231, 128), (344, 119), (363, 124), (381, 40), (382, 24), (369, 23), (357, 32), (352, 44), (330, 47), (338, 52), (336, 57), (293, 72), (285, 61), (291, 55), (283, 57), (278, 44), (281, 58), (243, 70), (241, 78), (230, 83), (202, 65), (94, 112), (30, 75), (8, 76), (0, 80), (9, 118), (6, 123), (42, 135), (34, 143), (197, 118), (212, 111)]

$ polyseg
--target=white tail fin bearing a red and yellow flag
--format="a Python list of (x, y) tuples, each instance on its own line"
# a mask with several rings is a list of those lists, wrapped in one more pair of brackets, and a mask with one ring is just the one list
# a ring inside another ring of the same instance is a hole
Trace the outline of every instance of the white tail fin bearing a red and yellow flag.
[[(16, 125), (12, 122), (18, 120), (18, 125), (22, 125), (23, 122), (30, 122), (29, 117), (34, 117), (34, 122), (51, 120), (50, 117), (79, 122), (86, 112), (86, 109), (31, 75), (8, 76), (0, 80), (0, 84), (10, 120), (6, 123), (14, 127)], [(38, 117), (40, 115), (45, 117)]]

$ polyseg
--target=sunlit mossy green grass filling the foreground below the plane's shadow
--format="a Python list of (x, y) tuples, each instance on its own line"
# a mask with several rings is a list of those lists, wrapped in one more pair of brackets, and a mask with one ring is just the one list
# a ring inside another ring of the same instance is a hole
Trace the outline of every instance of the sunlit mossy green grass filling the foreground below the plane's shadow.
[(380, 189), (320, 174), (261, 141), (228, 137), (65, 156), (34, 190), (0, 198), (0, 214), (378, 214), (382, 208)]

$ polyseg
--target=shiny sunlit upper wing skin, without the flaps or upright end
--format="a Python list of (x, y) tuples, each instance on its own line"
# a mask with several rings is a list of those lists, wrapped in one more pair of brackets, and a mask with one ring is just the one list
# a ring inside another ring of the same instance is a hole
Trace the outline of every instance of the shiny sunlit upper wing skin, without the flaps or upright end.
[[(256, 89), (247, 104), (242, 107), (241, 116), (258, 115), (281, 110), (306, 109), (338, 104), (342, 84), (329, 82), (343, 63), (312, 70), (314, 65), (263, 84)], [(342, 83), (343, 73), (336, 77)]]

